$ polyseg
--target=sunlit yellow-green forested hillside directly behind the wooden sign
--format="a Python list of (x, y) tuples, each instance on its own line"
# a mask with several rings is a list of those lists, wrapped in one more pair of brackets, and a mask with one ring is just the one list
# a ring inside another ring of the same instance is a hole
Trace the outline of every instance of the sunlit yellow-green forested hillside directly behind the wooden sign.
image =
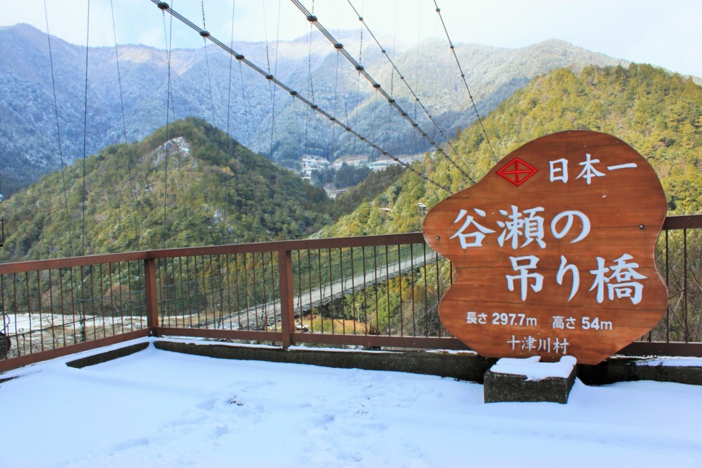
[[(668, 214), (702, 213), (702, 87), (692, 79), (651, 67), (557, 69), (531, 80), (483, 121), (458, 136), (454, 161), (476, 181), (509, 152), (534, 138), (567, 130), (611, 133), (644, 156), (661, 179)], [(491, 150), (494, 149), (494, 153)], [(427, 209), (470, 181), (444, 157), (425, 156), (373, 199), (317, 236), (419, 231)], [(376, 191), (376, 193), (378, 193)], [(337, 203), (345, 203), (341, 196)]]

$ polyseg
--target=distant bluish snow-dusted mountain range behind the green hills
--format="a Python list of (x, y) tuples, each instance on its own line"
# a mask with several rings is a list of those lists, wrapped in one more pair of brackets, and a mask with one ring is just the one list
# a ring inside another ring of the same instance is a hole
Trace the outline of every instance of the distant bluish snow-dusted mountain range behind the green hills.
[[(360, 62), (366, 71), (421, 128), (441, 141), (375, 44), (362, 41), (358, 32), (342, 31), (337, 39), (356, 57), (362, 51)], [(381, 44), (395, 44), (397, 67), (447, 136), (475, 119), (446, 42), (430, 39), (409, 46), (391, 37), (379, 39)], [(232, 48), (392, 154), (419, 154), (430, 148), (321, 34), (270, 44), (235, 42)], [(481, 114), (549, 70), (628, 65), (557, 40), (519, 49), (456, 44), (456, 54)], [(166, 51), (146, 46), (121, 45), (117, 54), (115, 48), (89, 48), (86, 93), (84, 47), (52, 37), (50, 58), (46, 34), (29, 25), (1, 27), (0, 193), (10, 196), (41, 174), (124, 142), (122, 105), (128, 142), (164, 126), (168, 61)], [(171, 121), (173, 114), (176, 119), (206, 119), (287, 167), (296, 166), (302, 154), (331, 160), (372, 153), (217, 46), (173, 49), (170, 63)]]

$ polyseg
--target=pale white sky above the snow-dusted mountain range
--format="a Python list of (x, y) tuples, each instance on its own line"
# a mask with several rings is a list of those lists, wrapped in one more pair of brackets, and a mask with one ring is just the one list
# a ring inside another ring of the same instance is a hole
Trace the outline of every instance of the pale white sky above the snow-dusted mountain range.
[[(358, 29), (348, 0), (302, 0), (331, 32)], [(91, 46), (119, 44), (165, 48), (164, 20), (150, 0), (92, 0)], [(171, 7), (201, 25), (201, 1), (171, 0)], [(444, 38), (432, 0), (351, 0), (375, 34), (394, 34), (414, 44)], [(522, 47), (563, 39), (614, 58), (651, 63), (702, 76), (702, 1), (699, 0), (437, 0), (453, 42)], [(51, 34), (85, 44), (87, 0), (46, 0)], [(232, 36), (232, 0), (204, 0), (206, 26), (227, 43)], [(44, 2), (0, 0), (1, 25), (27, 22), (46, 31)], [(236, 0), (234, 39), (275, 41), (309, 32), (289, 0)], [(203, 39), (176, 21), (173, 47), (194, 48)]]

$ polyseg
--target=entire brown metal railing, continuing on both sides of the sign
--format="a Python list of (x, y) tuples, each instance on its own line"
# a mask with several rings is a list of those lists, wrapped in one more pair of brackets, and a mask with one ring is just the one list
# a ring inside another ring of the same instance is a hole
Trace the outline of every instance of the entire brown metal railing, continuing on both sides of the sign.
[[(625, 352), (702, 356), (702, 215), (666, 218), (668, 312)], [(421, 233), (0, 265), (0, 371), (136, 337), (468, 349), (439, 322), (453, 267)]]

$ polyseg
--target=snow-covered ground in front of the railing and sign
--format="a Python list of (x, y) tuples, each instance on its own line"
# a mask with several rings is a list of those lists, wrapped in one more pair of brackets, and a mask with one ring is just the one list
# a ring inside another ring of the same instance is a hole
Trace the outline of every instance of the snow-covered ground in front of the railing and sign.
[[(94, 353), (94, 352), (93, 352)], [(0, 375), (2, 467), (699, 467), (702, 387), (587, 387), (567, 405), (482, 385), (148, 347)]]

